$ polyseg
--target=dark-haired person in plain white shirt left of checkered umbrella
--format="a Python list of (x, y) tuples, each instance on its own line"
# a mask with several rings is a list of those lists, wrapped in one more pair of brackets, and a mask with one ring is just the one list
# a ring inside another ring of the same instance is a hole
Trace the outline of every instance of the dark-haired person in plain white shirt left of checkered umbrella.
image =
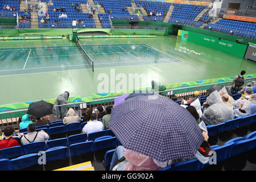
[(82, 128), (82, 133), (92, 133), (97, 131), (102, 131), (104, 129), (103, 123), (97, 120), (97, 114), (90, 114), (90, 120), (87, 124)]

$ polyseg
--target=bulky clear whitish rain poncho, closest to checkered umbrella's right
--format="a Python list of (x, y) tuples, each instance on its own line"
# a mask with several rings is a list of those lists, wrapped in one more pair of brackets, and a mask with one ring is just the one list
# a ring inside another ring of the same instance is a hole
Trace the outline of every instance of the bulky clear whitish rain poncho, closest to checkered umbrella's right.
[(207, 102), (210, 106), (204, 110), (202, 115), (205, 124), (217, 125), (229, 119), (234, 119), (232, 107), (221, 100), (221, 96), (217, 91), (214, 91), (207, 97)]

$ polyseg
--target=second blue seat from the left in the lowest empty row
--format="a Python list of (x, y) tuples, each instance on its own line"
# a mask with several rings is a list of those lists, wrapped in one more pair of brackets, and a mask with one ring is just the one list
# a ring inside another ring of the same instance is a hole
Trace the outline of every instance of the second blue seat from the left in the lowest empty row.
[(20, 156), (19, 158), (11, 159), (11, 163), (13, 164), (13, 169), (22, 169), (24, 167), (38, 164), (39, 157), (40, 156), (38, 154), (27, 154)]

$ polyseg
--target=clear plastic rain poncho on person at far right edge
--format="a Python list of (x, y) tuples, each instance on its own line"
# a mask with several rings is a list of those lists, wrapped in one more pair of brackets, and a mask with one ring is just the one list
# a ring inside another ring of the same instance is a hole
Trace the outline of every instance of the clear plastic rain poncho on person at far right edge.
[(238, 117), (256, 113), (256, 93), (252, 94), (248, 101), (243, 104), (242, 108), (234, 109), (234, 114)]

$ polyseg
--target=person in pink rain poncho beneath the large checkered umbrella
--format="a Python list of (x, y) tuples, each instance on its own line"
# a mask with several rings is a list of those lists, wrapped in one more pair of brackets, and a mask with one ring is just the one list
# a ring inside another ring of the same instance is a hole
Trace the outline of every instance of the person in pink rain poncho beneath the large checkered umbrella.
[(118, 146), (110, 163), (110, 171), (156, 171), (171, 164), (172, 160), (158, 162), (146, 155)]

